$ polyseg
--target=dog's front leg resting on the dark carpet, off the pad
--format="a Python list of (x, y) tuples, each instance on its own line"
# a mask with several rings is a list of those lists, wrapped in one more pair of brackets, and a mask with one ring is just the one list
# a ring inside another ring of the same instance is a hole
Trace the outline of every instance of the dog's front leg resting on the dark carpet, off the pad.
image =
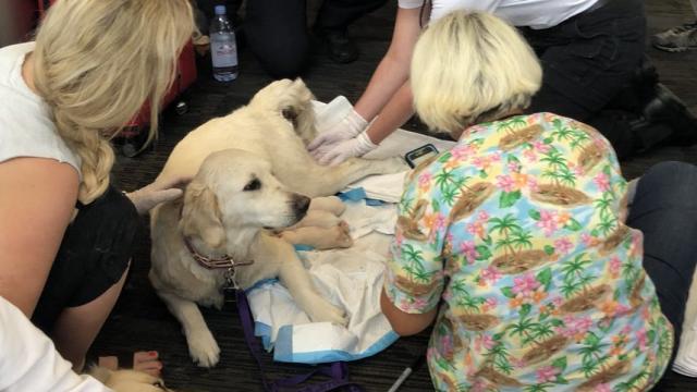
[(200, 367), (216, 366), (220, 359), (220, 347), (210, 333), (198, 305), (170, 293), (158, 291), (157, 294), (182, 323), (192, 359)]

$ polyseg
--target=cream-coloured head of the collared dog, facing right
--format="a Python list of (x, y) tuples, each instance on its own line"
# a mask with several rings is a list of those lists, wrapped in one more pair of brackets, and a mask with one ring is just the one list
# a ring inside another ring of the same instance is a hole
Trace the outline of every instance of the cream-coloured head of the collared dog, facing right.
[(208, 156), (186, 187), (180, 228), (184, 235), (216, 248), (224, 243), (227, 231), (295, 224), (309, 201), (289, 192), (266, 160), (227, 149)]

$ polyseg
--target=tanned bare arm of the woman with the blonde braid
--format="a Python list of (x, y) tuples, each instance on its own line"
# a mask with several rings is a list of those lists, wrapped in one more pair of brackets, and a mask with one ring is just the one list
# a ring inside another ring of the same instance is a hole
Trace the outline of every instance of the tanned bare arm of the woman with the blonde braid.
[(0, 296), (30, 318), (70, 223), (80, 179), (68, 163), (0, 163)]

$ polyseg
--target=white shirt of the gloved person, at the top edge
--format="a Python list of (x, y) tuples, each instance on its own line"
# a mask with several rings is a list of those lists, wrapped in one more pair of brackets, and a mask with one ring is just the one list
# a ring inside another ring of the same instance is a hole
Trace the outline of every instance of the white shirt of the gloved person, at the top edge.
[[(455, 10), (487, 11), (514, 26), (549, 28), (591, 8), (599, 0), (432, 0), (431, 21)], [(415, 9), (424, 0), (399, 0), (400, 8)]]

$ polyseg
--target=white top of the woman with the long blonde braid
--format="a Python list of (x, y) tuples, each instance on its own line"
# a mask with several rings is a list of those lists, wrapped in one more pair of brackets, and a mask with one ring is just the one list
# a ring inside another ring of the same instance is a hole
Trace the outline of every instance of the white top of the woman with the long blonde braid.
[(56, 132), (50, 111), (22, 77), (34, 42), (0, 48), (0, 162), (19, 157), (51, 158), (80, 173), (80, 157)]

